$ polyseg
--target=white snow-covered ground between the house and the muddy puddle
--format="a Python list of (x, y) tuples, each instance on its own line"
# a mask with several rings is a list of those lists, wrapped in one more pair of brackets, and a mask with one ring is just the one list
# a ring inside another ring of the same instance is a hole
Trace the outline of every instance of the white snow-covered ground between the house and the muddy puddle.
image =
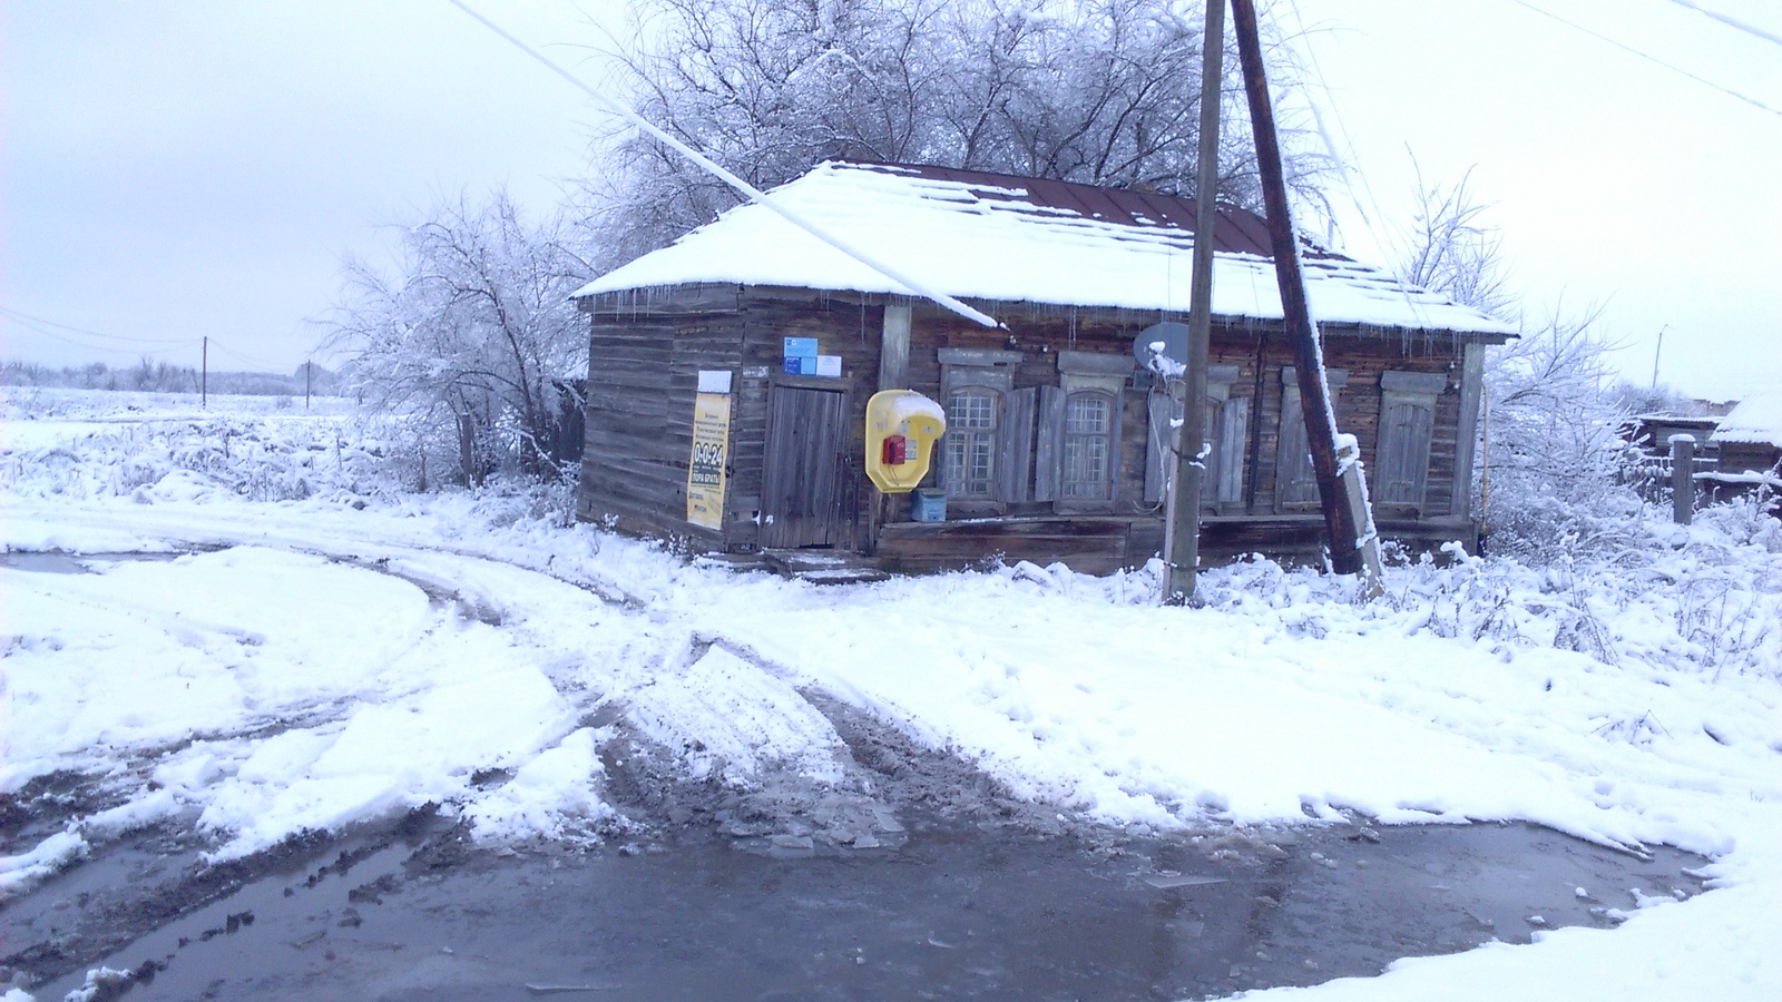
[(0, 571), (0, 792), (78, 772), (116, 806), (5, 849), (0, 893), (168, 818), (214, 859), (424, 802), (485, 840), (599, 840), (625, 824), (615, 715), (693, 777), (836, 781), (814, 688), (1098, 824), (1524, 818), (1716, 858), (1689, 900), (1597, 891), (1632, 913), (1613, 931), (1279, 995), (1782, 997), (1782, 526), (1752, 510), (1588, 565), (1397, 567), (1367, 604), (1272, 563), (1210, 572), (1199, 610), (1144, 569), (820, 588), (567, 524), (547, 492), (405, 494), (344, 410), (29, 394), (0, 533), (91, 572)]

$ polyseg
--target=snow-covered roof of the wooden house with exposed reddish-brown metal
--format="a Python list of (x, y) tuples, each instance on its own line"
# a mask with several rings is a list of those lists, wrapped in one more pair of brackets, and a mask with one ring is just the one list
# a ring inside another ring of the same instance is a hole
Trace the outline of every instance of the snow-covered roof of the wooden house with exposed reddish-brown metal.
[[(852, 162), (818, 164), (770, 194), (911, 280), (950, 296), (1132, 310), (1187, 310), (1189, 305), (1194, 244), (1189, 200)], [(1158, 210), (1137, 209), (1140, 198)], [(1096, 210), (1116, 203), (1128, 210)], [(1214, 314), (1281, 319), (1272, 260), (1263, 253), (1226, 250), (1265, 246), (1255, 239), (1260, 219), (1228, 209), (1221, 209), (1221, 216)], [(1312, 251), (1304, 266), (1306, 294), (1319, 323), (1515, 333), (1504, 321), (1342, 255)], [(672, 246), (609, 271), (576, 296), (691, 283), (914, 294), (770, 209), (748, 203)]]

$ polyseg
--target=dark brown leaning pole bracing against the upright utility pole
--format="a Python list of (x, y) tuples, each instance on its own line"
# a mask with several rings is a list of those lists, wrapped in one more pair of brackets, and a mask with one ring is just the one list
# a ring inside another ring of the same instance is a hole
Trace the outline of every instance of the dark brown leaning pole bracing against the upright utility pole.
[[(1331, 412), (1324, 383), (1324, 351), (1319, 346), (1312, 308), (1306, 305), (1306, 283), (1299, 267), (1299, 239), (1287, 203), (1287, 178), (1281, 169), (1281, 144), (1274, 132), (1274, 107), (1269, 102), (1269, 78), (1262, 68), (1262, 39), (1256, 34), (1256, 5), (1253, 0), (1231, 0), (1231, 27), (1237, 30), (1237, 52), (1244, 66), (1244, 96), (1249, 98), (1249, 121), (1256, 134), (1256, 168), (1262, 175), (1262, 200), (1269, 218), (1269, 242), (1274, 250), (1274, 278), (1281, 287), (1281, 310), (1287, 319), (1287, 339), (1294, 346), (1294, 364), (1299, 376), (1299, 401), (1306, 412), (1306, 442), (1312, 448), (1312, 471), (1319, 481), (1319, 501), (1324, 506), (1324, 526), (1331, 542), (1331, 569), (1338, 574), (1361, 572), (1361, 531), (1372, 524), (1365, 510), (1356, 512), (1338, 483), (1336, 417)], [(1365, 505), (1365, 503), (1363, 503)]]

